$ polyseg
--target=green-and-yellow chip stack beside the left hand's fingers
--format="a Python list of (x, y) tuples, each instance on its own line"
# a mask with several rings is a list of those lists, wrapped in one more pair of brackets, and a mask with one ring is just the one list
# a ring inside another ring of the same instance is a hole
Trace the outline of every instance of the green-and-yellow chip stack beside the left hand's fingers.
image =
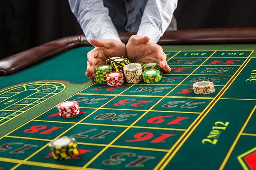
[(106, 83), (106, 74), (112, 72), (111, 65), (101, 65), (95, 69), (94, 81), (97, 83)]

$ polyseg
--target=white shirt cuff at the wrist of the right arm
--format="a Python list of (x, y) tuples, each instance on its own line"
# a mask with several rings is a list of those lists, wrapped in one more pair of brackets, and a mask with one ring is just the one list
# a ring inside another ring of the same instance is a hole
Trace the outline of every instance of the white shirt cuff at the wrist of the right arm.
[(150, 41), (157, 43), (160, 39), (160, 34), (158, 29), (153, 27), (152, 25), (141, 25), (139, 26), (139, 30), (137, 32), (138, 36), (148, 36)]

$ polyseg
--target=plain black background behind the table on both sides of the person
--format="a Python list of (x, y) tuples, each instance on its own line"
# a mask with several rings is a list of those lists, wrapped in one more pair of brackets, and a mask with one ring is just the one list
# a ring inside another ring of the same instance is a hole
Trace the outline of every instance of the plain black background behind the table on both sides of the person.
[[(83, 34), (67, 0), (0, 0), (0, 58)], [(256, 0), (178, 0), (178, 29), (256, 27)]]

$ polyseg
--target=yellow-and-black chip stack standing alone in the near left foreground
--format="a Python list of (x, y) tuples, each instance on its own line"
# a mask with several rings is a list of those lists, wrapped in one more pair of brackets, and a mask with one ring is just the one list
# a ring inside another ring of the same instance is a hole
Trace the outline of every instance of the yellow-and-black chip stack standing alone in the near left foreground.
[(78, 155), (78, 145), (75, 138), (62, 136), (48, 143), (52, 150), (53, 158), (56, 160), (71, 159)]

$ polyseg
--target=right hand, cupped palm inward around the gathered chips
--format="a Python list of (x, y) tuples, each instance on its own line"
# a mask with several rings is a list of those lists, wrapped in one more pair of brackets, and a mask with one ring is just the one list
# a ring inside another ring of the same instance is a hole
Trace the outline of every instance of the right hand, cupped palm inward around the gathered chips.
[(167, 64), (166, 54), (162, 47), (149, 41), (149, 37), (133, 35), (126, 45), (126, 54), (133, 63), (158, 62), (163, 72), (170, 72), (171, 68)]

